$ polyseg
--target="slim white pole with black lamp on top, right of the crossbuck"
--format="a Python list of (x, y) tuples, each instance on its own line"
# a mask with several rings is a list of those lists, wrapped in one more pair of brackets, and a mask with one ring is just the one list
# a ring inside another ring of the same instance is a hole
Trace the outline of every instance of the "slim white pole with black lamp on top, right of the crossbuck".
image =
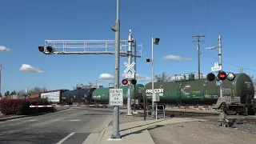
[(159, 45), (160, 43), (160, 38), (153, 38), (152, 37), (152, 58), (146, 58), (146, 63), (150, 63), (152, 64), (152, 114), (154, 115), (154, 99), (155, 99), (155, 94), (154, 94), (154, 45)]

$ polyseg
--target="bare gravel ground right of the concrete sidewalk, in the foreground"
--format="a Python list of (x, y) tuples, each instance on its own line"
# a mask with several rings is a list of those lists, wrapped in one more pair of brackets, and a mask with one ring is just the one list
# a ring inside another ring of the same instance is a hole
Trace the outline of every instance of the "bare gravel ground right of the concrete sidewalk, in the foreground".
[[(241, 128), (239, 128), (241, 129)], [(254, 144), (256, 134), (209, 122), (181, 122), (149, 130), (156, 144)]]

